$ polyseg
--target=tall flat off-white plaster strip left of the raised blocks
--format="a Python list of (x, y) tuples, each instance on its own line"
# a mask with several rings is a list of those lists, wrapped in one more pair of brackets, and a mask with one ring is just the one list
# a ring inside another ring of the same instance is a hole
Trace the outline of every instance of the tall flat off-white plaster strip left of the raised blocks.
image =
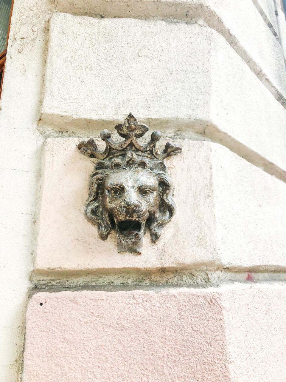
[(21, 369), (43, 141), (37, 120), (52, 12), (50, 1), (15, 0), (6, 55), (0, 107), (1, 382), (18, 381)]

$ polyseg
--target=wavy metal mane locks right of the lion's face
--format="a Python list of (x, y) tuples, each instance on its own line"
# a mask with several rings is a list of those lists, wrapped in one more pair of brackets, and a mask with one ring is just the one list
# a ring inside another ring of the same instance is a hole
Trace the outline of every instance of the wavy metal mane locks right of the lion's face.
[(164, 224), (172, 219), (175, 213), (175, 203), (172, 199), (172, 188), (169, 176), (165, 172), (157, 173), (159, 184), (159, 208), (150, 225), (151, 241), (154, 243), (161, 236)]

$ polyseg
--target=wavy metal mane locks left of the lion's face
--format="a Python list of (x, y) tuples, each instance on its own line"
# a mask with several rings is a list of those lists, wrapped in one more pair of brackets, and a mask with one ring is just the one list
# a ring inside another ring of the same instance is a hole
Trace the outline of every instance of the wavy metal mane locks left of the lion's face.
[(85, 206), (85, 217), (90, 223), (97, 225), (100, 238), (106, 240), (111, 230), (111, 224), (108, 218), (108, 213), (101, 203), (104, 191), (103, 183), (102, 171), (96, 171), (90, 177), (89, 195)]

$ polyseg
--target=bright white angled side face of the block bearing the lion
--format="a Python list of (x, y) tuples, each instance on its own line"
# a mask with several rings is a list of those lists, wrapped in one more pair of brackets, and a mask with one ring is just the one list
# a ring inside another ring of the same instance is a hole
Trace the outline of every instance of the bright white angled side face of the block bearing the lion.
[(222, 147), (212, 147), (211, 163), (216, 249), (223, 266), (285, 267), (286, 185)]

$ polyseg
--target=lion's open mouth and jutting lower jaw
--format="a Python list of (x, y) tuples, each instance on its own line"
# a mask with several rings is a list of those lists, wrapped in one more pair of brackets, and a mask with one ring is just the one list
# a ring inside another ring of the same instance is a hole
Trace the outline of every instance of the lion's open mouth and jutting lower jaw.
[(133, 252), (141, 254), (145, 223), (138, 220), (114, 219), (116, 225), (118, 252)]

